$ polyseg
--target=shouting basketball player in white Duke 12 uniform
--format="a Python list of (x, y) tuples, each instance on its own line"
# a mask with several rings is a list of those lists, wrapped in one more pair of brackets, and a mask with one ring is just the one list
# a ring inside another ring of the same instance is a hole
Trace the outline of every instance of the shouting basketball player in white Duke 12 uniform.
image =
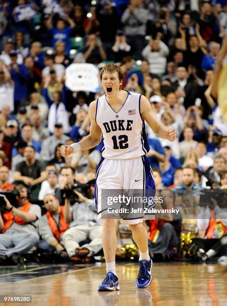
[[(105, 94), (89, 106), (90, 134), (78, 143), (61, 147), (61, 154), (66, 157), (96, 146), (103, 135), (102, 158), (96, 170), (95, 199), (98, 216), (101, 215), (101, 189), (155, 189), (151, 168), (145, 155), (149, 146), (144, 120), (159, 137), (170, 141), (176, 138), (174, 129), (166, 129), (160, 125), (144, 95), (121, 90), (123, 73), (117, 65), (105, 65), (100, 77)], [(152, 266), (147, 231), (142, 218), (122, 221), (129, 224), (140, 252), (136, 286), (145, 288), (151, 282)], [(98, 291), (120, 289), (115, 267), (116, 223), (117, 219), (103, 219), (102, 243), (107, 275), (99, 285)]]

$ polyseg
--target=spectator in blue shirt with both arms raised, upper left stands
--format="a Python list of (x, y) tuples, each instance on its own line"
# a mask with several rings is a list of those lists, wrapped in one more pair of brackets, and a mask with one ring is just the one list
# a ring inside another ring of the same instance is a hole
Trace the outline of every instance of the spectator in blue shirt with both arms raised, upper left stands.
[(66, 26), (65, 20), (59, 19), (57, 21), (57, 26), (54, 27), (52, 24), (52, 16), (48, 19), (47, 27), (51, 30), (53, 35), (52, 46), (55, 47), (55, 44), (58, 40), (62, 40), (66, 45), (66, 53), (70, 53), (70, 34), (75, 27), (75, 22), (66, 14), (66, 21), (69, 22), (70, 26)]

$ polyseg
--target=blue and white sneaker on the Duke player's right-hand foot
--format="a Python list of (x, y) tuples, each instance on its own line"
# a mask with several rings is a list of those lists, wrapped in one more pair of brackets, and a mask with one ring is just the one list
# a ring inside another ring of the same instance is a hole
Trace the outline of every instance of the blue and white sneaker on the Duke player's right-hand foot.
[(151, 276), (152, 259), (139, 261), (139, 273), (136, 278), (137, 288), (146, 288), (152, 280)]

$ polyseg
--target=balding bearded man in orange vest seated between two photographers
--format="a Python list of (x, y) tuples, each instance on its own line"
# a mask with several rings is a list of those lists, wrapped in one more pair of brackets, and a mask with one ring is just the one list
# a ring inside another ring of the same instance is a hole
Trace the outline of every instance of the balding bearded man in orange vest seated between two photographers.
[(47, 213), (39, 219), (38, 228), (42, 240), (38, 242), (38, 247), (46, 253), (62, 253), (62, 235), (69, 227), (64, 218), (64, 206), (60, 206), (59, 200), (51, 193), (45, 195), (44, 206)]

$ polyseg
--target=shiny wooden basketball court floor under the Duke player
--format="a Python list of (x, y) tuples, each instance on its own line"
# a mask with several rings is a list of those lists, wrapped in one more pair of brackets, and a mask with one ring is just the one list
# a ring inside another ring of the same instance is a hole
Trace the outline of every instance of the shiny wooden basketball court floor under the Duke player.
[(105, 264), (0, 267), (1, 305), (4, 296), (30, 296), (31, 303), (50, 306), (190, 305), (227, 306), (227, 267), (215, 263), (154, 263), (153, 281), (138, 289), (138, 265), (117, 264), (120, 291), (98, 292)]

